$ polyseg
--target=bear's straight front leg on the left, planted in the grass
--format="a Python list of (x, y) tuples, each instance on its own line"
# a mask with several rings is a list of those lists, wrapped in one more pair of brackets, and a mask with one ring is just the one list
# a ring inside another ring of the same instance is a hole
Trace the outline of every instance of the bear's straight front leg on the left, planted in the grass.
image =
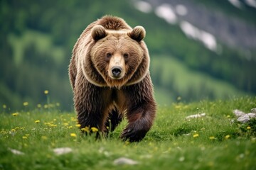
[[(79, 76), (79, 75), (78, 75)], [(91, 84), (80, 75), (74, 88), (75, 111), (78, 113), (80, 128), (97, 128), (105, 132), (105, 119), (107, 117), (107, 89)]]

